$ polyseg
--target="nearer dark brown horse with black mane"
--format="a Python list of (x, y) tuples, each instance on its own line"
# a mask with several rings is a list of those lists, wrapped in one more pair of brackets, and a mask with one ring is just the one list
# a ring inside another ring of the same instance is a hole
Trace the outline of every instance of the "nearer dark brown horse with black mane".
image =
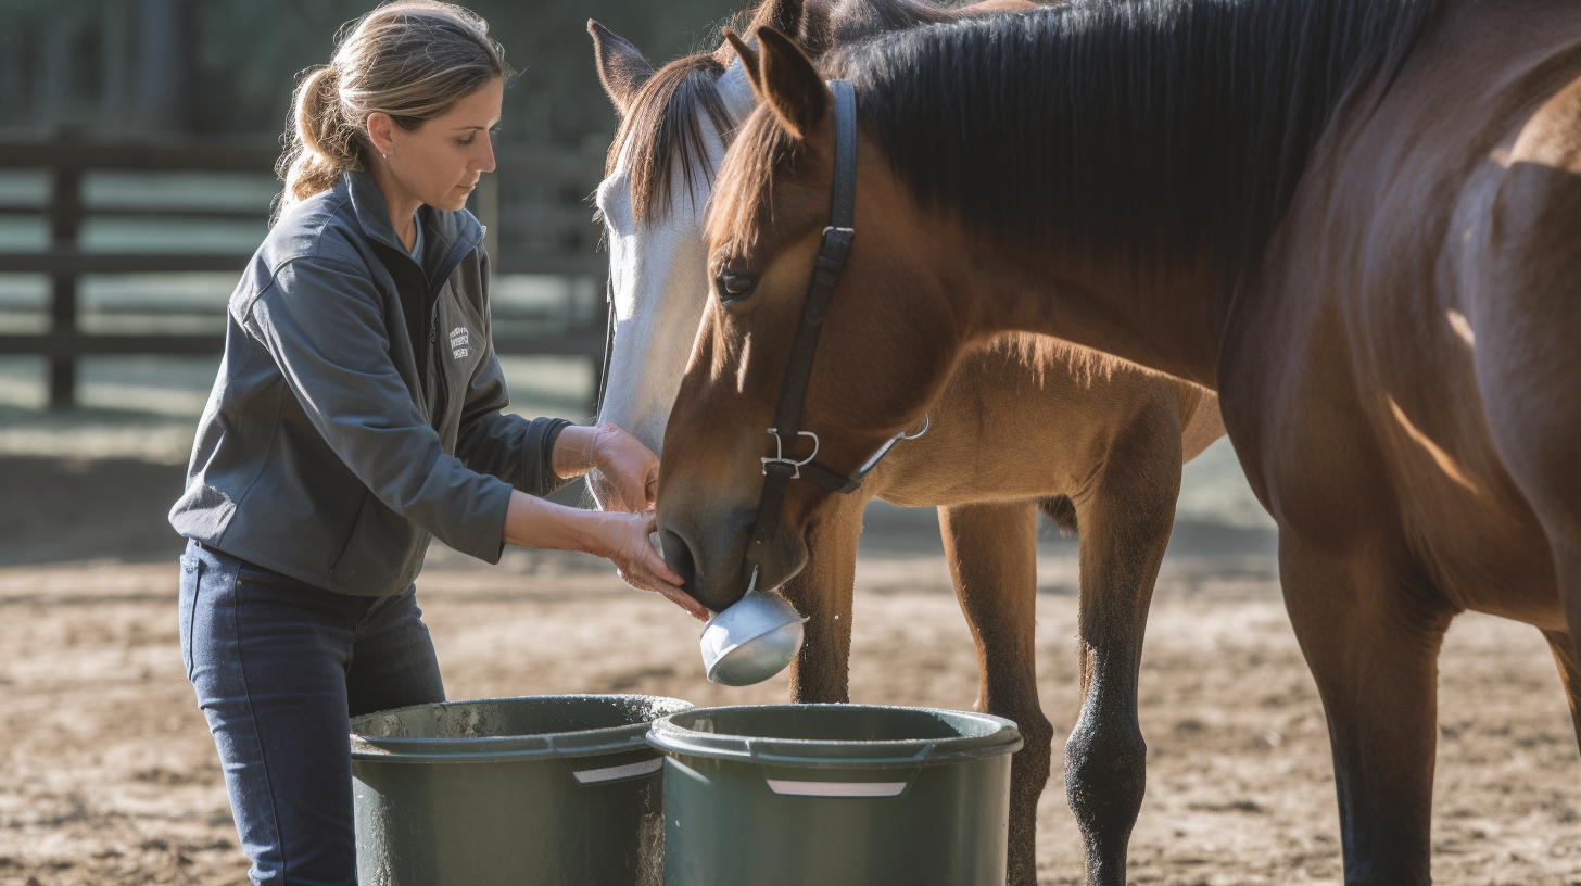
[(757, 36), (765, 108), (719, 172), (715, 297), (666, 434), (675, 562), (716, 595), (748, 562), (781, 582), (841, 506), (792, 483), (748, 551), (828, 225), (824, 76), (846, 78), (855, 234), (806, 394), (819, 459), (862, 464), (1010, 329), (1217, 389), (1279, 524), (1345, 880), (1428, 883), (1450, 620), (1537, 627), (1573, 714), (1581, 688), (1581, 5), (1077, 0), (822, 73)]

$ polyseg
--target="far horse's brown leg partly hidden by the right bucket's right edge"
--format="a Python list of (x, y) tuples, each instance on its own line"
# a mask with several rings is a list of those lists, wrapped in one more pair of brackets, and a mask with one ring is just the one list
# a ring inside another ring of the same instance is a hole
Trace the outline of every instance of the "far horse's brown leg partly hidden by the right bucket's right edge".
[(1024, 745), (1010, 763), (1010, 878), (1037, 883), (1037, 797), (1048, 782), (1053, 726), (1037, 704), (1032, 628), (1037, 505), (939, 508), (955, 593), (977, 642), (977, 709), (1015, 720)]

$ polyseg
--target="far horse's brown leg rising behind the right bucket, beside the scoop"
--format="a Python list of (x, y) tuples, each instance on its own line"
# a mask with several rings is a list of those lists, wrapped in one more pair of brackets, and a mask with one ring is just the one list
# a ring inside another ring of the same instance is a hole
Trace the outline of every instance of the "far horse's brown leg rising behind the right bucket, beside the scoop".
[(781, 587), (806, 615), (802, 652), (790, 666), (790, 701), (851, 701), (851, 595), (857, 579), (857, 538), (865, 495), (843, 497), (809, 527), (806, 566)]

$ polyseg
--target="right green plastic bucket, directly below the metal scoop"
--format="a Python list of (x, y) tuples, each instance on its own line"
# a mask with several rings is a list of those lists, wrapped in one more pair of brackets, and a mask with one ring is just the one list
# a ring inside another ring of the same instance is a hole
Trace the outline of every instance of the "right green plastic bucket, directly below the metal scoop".
[(858, 704), (653, 721), (666, 886), (1004, 886), (1015, 723)]

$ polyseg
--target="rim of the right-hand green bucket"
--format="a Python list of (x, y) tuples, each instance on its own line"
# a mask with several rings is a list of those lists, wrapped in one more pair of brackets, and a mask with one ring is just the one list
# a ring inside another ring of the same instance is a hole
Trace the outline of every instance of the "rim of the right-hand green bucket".
[[(877, 712), (931, 714), (947, 720), (971, 721), (983, 733), (942, 739), (773, 739), (702, 733), (675, 721), (678, 717), (734, 714), (740, 710), (847, 709)], [(975, 710), (914, 707), (900, 704), (730, 704), (677, 710), (648, 723), (648, 744), (667, 755), (734, 759), (767, 766), (813, 766), (833, 769), (907, 767), (964, 763), (1021, 750), (1015, 721)]]

